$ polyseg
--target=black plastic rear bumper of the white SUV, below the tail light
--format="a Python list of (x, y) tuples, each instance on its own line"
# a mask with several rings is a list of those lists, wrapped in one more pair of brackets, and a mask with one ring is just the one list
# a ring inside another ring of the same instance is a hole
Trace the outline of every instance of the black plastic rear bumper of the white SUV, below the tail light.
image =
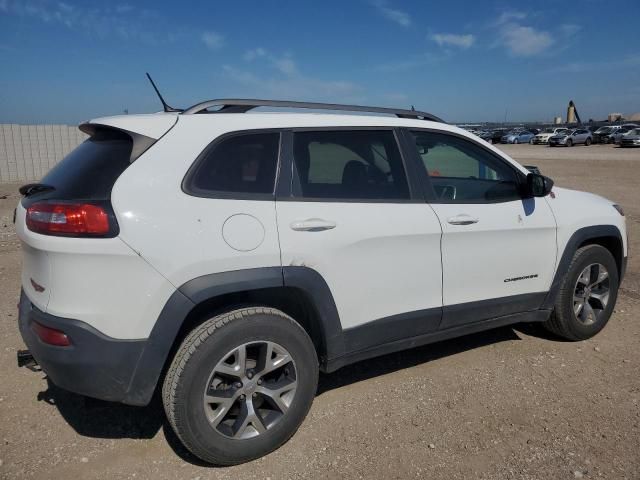
[[(33, 322), (61, 330), (71, 346), (58, 347), (40, 340)], [(58, 387), (89, 397), (127, 402), (136, 365), (146, 340), (108, 337), (79, 320), (56, 317), (38, 310), (24, 292), (20, 296), (20, 333), (42, 370)]]

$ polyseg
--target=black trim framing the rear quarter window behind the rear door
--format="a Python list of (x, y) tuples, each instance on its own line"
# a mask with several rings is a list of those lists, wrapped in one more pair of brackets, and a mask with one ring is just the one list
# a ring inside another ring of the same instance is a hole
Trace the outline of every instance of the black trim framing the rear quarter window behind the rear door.
[[(207, 155), (217, 148), (222, 142), (237, 136), (259, 135), (266, 133), (278, 134), (278, 154), (276, 158), (276, 173), (271, 193), (251, 193), (251, 192), (229, 192), (224, 190), (207, 190), (201, 191), (193, 188), (193, 180), (200, 164), (206, 159)], [(187, 173), (185, 173), (182, 182), (182, 191), (191, 196), (198, 198), (217, 198), (221, 200), (262, 200), (274, 201), (276, 199), (276, 191), (280, 183), (279, 177), (282, 164), (282, 146), (283, 146), (283, 129), (282, 128), (252, 128), (247, 130), (233, 130), (217, 136), (198, 154), (193, 161)]]

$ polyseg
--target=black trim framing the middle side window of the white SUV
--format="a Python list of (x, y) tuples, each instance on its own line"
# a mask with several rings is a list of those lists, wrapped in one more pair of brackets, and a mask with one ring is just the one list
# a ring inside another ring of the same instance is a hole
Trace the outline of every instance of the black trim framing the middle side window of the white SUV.
[[(321, 127), (294, 127), (285, 129), (284, 139), (281, 152), (282, 169), (290, 172), (290, 182), (288, 189), (279, 188), (277, 201), (285, 202), (315, 202), (315, 203), (399, 203), (399, 204), (424, 204), (425, 199), (422, 193), (420, 183), (415, 176), (413, 160), (407, 158), (405, 149), (402, 145), (402, 133), (400, 128), (393, 126), (321, 126)], [(404, 176), (409, 190), (408, 198), (338, 198), (338, 197), (303, 197), (301, 196), (300, 177), (298, 175), (295, 159), (294, 159), (294, 136), (296, 133), (302, 132), (339, 132), (339, 131), (387, 131), (393, 134), (396, 148), (400, 155), (400, 161), (404, 169)], [(285, 175), (283, 175), (285, 177)]]

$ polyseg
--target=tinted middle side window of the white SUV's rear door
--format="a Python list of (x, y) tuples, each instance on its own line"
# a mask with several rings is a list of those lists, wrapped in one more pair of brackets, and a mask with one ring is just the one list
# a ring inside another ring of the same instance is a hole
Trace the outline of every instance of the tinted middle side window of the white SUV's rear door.
[(406, 199), (409, 187), (392, 131), (294, 134), (294, 161), (305, 198)]

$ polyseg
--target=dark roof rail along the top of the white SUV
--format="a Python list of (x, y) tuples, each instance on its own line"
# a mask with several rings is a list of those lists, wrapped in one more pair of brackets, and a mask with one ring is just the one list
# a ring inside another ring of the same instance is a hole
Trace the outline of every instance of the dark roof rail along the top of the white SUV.
[[(220, 107), (214, 111), (208, 108)], [(365, 107), (362, 105), (342, 105), (338, 103), (313, 103), (294, 102), (289, 100), (258, 100), (247, 98), (223, 98), (218, 100), (207, 100), (185, 109), (182, 115), (193, 113), (245, 113), (257, 107), (278, 107), (278, 108), (308, 108), (312, 110), (336, 110), (342, 112), (368, 112), (386, 113), (399, 118), (416, 118), (421, 120), (431, 120), (433, 122), (445, 123), (441, 118), (427, 112), (418, 110), (403, 110), (397, 108)]]

